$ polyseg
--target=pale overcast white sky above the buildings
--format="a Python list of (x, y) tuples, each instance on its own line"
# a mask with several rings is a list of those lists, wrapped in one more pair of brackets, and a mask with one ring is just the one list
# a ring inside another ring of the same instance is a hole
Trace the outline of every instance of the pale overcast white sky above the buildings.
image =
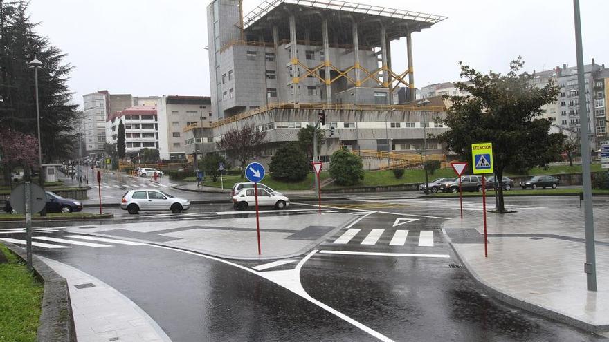
[[(69, 86), (82, 95), (210, 95), (206, 32), (209, 0), (31, 0), (38, 32), (75, 66)], [(572, 0), (357, 0), (444, 15), (412, 35), (415, 86), (457, 80), (458, 61), (505, 72), (522, 55), (527, 70), (576, 65)], [(244, 0), (244, 13), (260, 0)], [(583, 56), (609, 67), (607, 0), (581, 1)], [(393, 69), (406, 69), (406, 42), (392, 43)]]

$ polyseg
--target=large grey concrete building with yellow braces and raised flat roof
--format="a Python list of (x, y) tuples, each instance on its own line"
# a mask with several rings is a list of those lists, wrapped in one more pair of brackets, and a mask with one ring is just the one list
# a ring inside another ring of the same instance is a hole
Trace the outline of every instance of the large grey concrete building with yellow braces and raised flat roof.
[[(438, 120), (446, 109), (442, 99), (415, 102), (412, 59), (412, 35), (446, 17), (335, 0), (265, 0), (245, 16), (242, 1), (214, 0), (207, 15), (217, 120), (185, 129), (190, 153), (212, 151), (226, 131), (251, 124), (269, 131), (272, 155), (280, 143), (296, 140), (300, 127), (314, 124), (321, 109), (327, 126), (336, 127), (322, 161), (341, 146), (416, 154), (424, 133), (446, 130)], [(408, 68), (393, 70), (391, 43), (401, 38)], [(406, 87), (409, 103), (395, 104), (398, 87)], [(428, 148), (441, 153), (433, 139)]]

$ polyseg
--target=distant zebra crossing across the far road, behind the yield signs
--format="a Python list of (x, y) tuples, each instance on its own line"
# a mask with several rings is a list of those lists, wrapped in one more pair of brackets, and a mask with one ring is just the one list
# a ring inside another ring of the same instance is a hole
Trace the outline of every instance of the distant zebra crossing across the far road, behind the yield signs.
[[(463, 210), (470, 211), (482, 211), (482, 200), (477, 202), (463, 202)], [(436, 200), (427, 198), (387, 198), (377, 200), (359, 200), (358, 202), (369, 203), (370, 205), (376, 205), (378, 203), (385, 205), (405, 205), (408, 207), (422, 207), (422, 208), (433, 208), (433, 209), (460, 209), (458, 199), (446, 199)], [(487, 202), (488, 207), (488, 202)], [(529, 205), (506, 205), (506, 209), (543, 209), (543, 207), (531, 207)]]

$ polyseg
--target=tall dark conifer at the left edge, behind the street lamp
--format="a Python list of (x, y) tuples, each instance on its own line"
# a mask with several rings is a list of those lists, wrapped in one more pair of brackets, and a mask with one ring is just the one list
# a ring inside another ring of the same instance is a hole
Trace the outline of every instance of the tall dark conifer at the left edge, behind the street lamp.
[(69, 155), (76, 135), (67, 80), (72, 70), (66, 56), (35, 32), (27, 14), (28, 1), (0, 0), (0, 126), (37, 137), (34, 72), (28, 62), (42, 61), (38, 70), (40, 131), (43, 162)]

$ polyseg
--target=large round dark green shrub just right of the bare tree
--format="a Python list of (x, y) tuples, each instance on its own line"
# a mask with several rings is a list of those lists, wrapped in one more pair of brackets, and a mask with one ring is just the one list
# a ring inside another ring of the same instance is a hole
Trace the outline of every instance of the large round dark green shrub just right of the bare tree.
[(273, 179), (298, 182), (307, 178), (309, 158), (296, 142), (289, 142), (271, 158), (269, 171)]

